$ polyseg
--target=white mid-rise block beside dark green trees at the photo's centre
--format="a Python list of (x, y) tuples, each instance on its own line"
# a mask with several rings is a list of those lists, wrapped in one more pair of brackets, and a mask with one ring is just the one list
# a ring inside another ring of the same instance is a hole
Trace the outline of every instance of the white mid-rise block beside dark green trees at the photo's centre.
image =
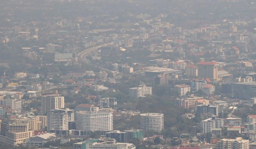
[(146, 87), (146, 85), (140, 85), (129, 89), (130, 98), (138, 98), (152, 95), (152, 87)]

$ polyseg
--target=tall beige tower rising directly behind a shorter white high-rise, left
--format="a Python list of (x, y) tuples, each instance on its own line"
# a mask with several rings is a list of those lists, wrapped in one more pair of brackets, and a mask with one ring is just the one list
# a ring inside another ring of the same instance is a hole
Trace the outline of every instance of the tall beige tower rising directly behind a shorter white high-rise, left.
[(48, 113), (50, 110), (64, 108), (64, 96), (59, 94), (45, 95), (41, 97), (42, 112)]

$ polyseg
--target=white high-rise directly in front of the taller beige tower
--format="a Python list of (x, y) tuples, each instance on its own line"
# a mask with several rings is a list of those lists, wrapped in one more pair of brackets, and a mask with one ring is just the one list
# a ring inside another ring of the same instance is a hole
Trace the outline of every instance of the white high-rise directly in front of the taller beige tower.
[(48, 130), (61, 129), (68, 130), (68, 111), (62, 109), (50, 110), (48, 113)]

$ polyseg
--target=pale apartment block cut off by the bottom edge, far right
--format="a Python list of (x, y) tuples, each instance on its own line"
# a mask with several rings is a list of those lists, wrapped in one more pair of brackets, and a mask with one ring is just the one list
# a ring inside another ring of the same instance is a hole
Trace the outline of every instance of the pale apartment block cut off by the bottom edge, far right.
[(219, 140), (214, 149), (249, 149), (249, 140), (242, 138)]

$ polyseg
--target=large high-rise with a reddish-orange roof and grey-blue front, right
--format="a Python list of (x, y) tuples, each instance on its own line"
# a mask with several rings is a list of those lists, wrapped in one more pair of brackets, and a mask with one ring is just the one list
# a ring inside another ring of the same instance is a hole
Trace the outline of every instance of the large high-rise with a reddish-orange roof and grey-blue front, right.
[(198, 76), (201, 78), (210, 78), (213, 81), (218, 81), (217, 62), (199, 62)]

